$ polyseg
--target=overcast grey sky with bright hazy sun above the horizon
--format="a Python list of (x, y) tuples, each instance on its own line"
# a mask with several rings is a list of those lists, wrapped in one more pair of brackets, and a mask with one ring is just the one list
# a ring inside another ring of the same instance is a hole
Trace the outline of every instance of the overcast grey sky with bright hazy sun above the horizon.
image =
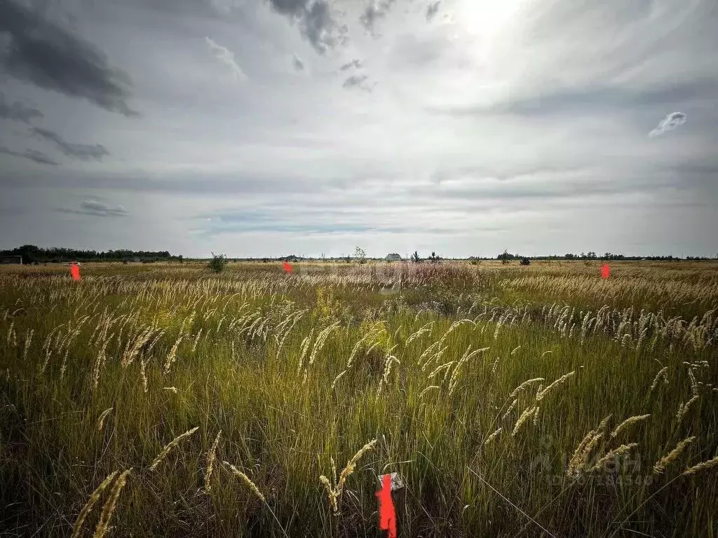
[(0, 248), (718, 253), (714, 0), (0, 0)]

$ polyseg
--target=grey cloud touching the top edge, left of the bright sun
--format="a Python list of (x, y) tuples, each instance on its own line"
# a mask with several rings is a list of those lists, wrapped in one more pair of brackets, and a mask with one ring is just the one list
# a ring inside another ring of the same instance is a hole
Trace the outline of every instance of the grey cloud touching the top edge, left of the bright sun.
[(289, 16), (299, 24), (312, 47), (320, 54), (345, 44), (349, 28), (340, 24), (332, 12), (330, 0), (266, 0), (283, 15)]

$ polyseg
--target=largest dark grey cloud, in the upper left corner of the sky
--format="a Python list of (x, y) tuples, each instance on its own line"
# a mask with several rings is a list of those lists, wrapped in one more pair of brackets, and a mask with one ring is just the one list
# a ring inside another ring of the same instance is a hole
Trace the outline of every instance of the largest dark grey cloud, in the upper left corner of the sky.
[(129, 77), (108, 65), (92, 43), (14, 0), (0, 0), (1, 34), (8, 44), (0, 51), (0, 65), (10, 75), (106, 110), (137, 115), (127, 105)]

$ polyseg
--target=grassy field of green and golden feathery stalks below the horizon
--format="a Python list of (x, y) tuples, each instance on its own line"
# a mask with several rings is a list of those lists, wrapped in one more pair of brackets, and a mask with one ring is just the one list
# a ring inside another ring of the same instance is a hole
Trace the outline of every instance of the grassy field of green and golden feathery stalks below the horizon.
[(4, 266), (0, 536), (716, 537), (718, 265), (600, 265)]

